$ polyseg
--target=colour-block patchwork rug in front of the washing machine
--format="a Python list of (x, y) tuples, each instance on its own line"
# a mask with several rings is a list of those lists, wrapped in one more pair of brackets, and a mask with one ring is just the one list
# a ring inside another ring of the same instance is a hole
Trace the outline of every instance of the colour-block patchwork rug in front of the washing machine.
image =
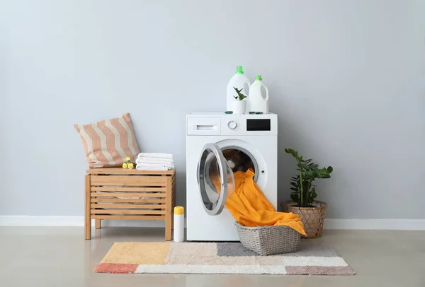
[(115, 242), (100, 273), (353, 275), (339, 254), (301, 242), (295, 253), (261, 256), (240, 242)]

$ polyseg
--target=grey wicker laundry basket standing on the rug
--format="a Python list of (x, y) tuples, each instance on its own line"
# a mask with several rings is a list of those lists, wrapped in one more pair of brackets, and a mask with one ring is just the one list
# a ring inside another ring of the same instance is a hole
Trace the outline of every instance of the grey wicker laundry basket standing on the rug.
[(261, 255), (296, 252), (301, 235), (286, 225), (246, 227), (234, 223), (242, 245)]

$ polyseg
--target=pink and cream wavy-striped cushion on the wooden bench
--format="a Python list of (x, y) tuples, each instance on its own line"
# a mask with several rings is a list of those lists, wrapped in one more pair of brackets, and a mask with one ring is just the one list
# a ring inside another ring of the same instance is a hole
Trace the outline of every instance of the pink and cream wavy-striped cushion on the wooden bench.
[(139, 153), (129, 113), (74, 127), (81, 136), (89, 168), (119, 167), (126, 157), (134, 162)]

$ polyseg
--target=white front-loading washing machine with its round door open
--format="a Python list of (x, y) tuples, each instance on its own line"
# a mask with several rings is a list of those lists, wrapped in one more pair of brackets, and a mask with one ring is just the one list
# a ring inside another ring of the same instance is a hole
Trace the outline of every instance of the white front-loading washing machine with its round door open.
[(234, 172), (254, 170), (268, 201), (278, 201), (278, 121), (275, 114), (186, 115), (186, 231), (190, 241), (237, 241), (225, 201)]

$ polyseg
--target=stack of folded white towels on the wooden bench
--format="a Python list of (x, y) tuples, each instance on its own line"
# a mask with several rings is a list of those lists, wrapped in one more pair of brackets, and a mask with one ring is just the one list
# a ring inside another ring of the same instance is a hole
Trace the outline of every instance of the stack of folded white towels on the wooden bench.
[(136, 159), (137, 170), (172, 170), (173, 155), (170, 153), (139, 153)]

